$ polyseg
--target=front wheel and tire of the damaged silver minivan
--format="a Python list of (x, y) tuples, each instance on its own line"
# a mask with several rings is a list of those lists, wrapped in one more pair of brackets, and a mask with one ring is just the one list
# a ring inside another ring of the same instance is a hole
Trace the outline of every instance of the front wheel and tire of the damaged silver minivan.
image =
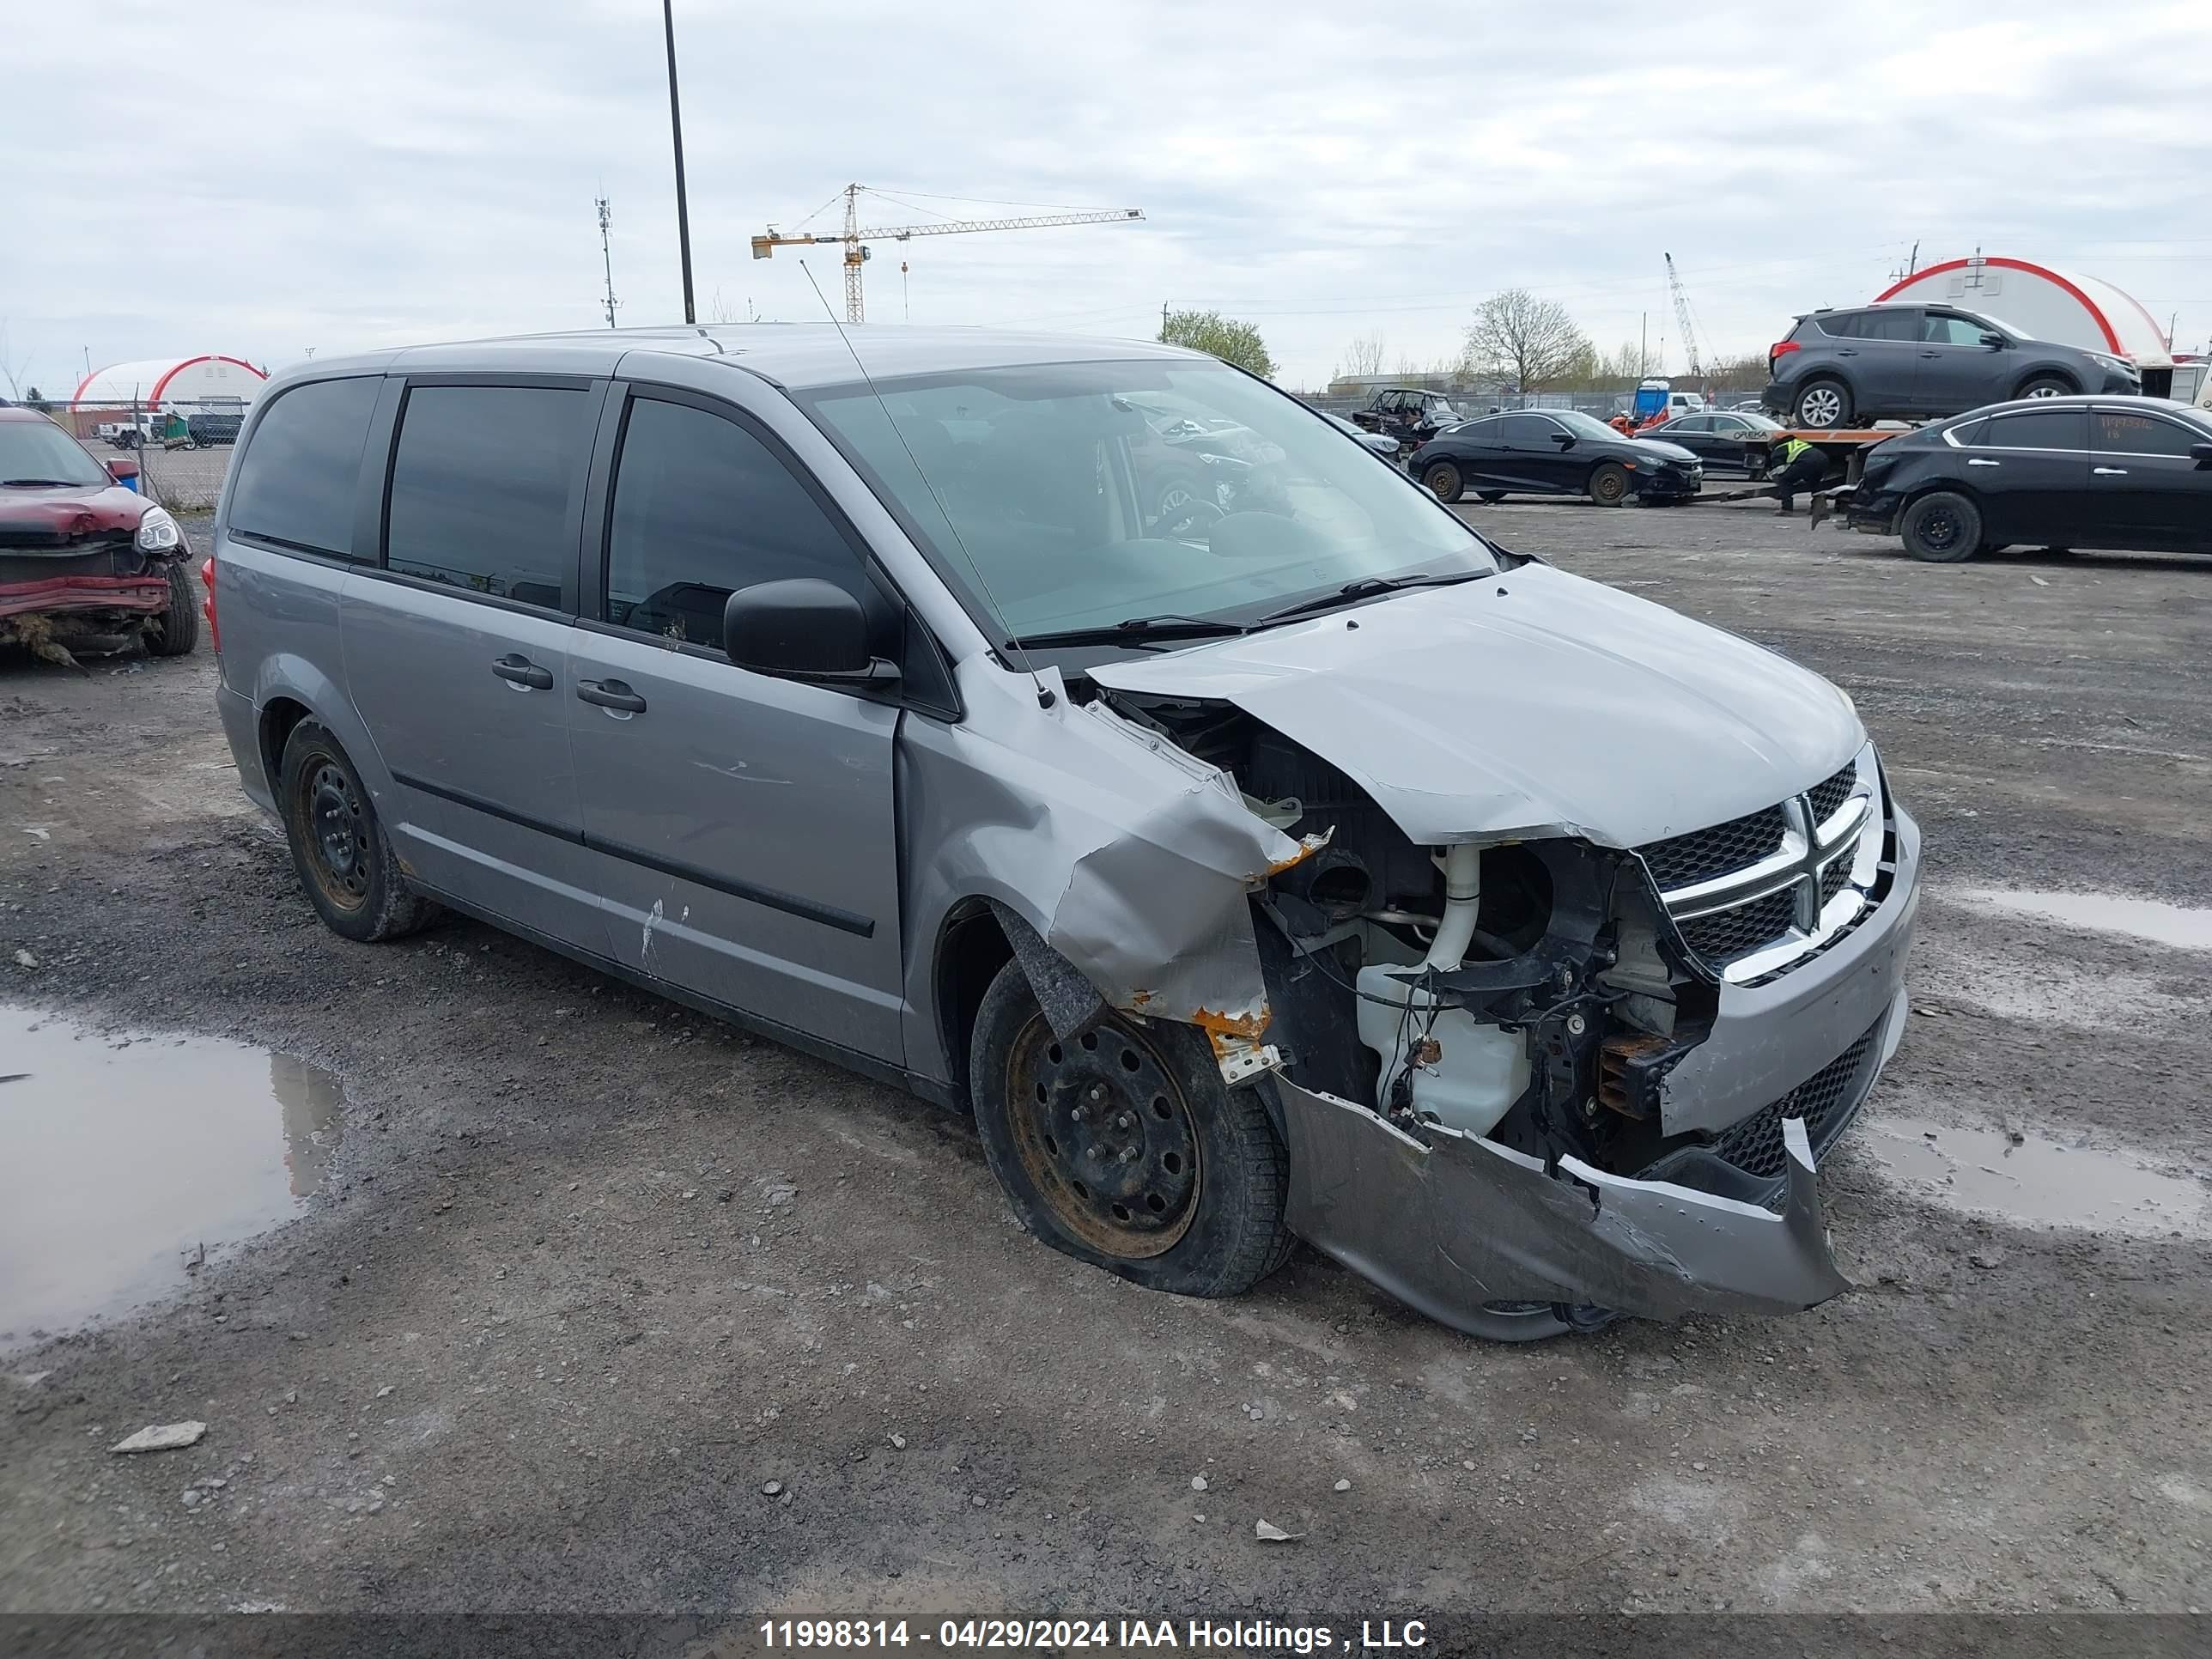
[(1197, 1029), (1106, 1013), (1062, 1042), (1006, 962), (969, 1079), (991, 1175), (1053, 1250), (1177, 1296), (1237, 1296), (1290, 1254), (1290, 1152)]

